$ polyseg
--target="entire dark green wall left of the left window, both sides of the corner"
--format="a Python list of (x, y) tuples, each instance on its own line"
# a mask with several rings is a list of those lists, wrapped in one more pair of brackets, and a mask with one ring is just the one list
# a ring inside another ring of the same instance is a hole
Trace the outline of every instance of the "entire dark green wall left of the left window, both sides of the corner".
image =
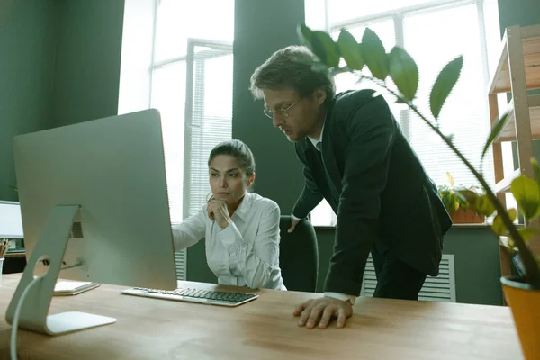
[(123, 6), (124, 0), (23, 0), (3, 14), (0, 200), (16, 199), (15, 135), (117, 113)]

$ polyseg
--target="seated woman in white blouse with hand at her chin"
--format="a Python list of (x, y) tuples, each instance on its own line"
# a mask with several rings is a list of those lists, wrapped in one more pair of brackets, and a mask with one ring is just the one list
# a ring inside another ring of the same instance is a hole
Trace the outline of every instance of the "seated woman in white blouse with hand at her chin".
[(211, 198), (181, 224), (173, 225), (175, 249), (206, 240), (206, 261), (218, 284), (286, 290), (279, 268), (277, 203), (247, 188), (255, 160), (239, 140), (220, 143), (208, 160)]

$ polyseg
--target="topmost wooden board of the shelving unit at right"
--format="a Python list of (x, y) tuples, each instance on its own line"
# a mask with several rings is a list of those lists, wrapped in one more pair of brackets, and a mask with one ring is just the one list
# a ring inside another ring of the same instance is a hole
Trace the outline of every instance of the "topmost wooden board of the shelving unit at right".
[[(523, 62), (527, 89), (540, 88), (540, 24), (519, 28), (523, 48)], [(509, 93), (512, 91), (509, 74), (508, 37), (505, 31), (500, 47), (500, 58), (494, 76), (491, 77), (488, 94)]]

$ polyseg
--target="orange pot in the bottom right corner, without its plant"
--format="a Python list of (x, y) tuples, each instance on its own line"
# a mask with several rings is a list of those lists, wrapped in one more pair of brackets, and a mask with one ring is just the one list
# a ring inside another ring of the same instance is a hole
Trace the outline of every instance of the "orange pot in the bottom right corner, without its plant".
[(526, 360), (540, 359), (540, 290), (517, 277), (501, 277)]

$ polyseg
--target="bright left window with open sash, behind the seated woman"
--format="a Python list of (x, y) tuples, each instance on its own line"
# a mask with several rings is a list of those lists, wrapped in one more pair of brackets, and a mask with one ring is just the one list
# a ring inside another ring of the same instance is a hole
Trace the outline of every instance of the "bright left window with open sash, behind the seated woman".
[(171, 221), (182, 222), (210, 193), (211, 148), (231, 138), (234, 0), (160, 0), (156, 19), (151, 106), (163, 122)]

